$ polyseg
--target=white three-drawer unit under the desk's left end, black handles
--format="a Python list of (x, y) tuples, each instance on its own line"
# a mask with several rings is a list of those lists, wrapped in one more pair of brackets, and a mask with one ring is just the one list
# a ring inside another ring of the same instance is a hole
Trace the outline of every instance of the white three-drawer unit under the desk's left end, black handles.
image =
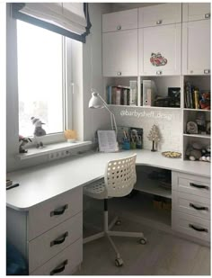
[(7, 208), (6, 212), (7, 239), (27, 261), (29, 274), (72, 274), (82, 263), (83, 188), (29, 211)]

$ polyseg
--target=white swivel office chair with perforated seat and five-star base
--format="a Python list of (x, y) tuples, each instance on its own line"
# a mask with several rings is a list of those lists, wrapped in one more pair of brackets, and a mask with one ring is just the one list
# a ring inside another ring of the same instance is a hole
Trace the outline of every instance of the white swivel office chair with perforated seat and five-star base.
[(134, 184), (137, 182), (136, 158), (137, 155), (135, 154), (131, 157), (109, 161), (106, 166), (104, 178), (93, 182), (93, 184), (84, 186), (84, 194), (94, 199), (104, 200), (104, 230), (91, 237), (84, 238), (84, 244), (97, 238), (107, 237), (116, 252), (115, 264), (117, 266), (123, 265), (123, 260), (110, 236), (140, 238), (139, 242), (141, 244), (146, 244), (146, 238), (144, 238), (141, 232), (110, 230), (118, 218), (108, 225), (108, 198), (126, 196), (132, 191)]

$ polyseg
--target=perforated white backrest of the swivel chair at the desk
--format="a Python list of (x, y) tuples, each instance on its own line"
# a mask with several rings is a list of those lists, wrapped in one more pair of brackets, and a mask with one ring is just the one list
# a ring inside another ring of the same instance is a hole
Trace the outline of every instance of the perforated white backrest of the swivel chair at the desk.
[(110, 160), (106, 166), (104, 182), (109, 197), (128, 195), (137, 182), (137, 155)]

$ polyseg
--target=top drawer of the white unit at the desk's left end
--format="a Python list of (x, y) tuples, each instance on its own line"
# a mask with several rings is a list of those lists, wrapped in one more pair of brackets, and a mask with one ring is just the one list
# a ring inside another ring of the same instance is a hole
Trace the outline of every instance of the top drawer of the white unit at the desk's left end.
[(83, 211), (82, 187), (32, 207), (28, 215), (28, 240), (40, 236), (80, 211)]

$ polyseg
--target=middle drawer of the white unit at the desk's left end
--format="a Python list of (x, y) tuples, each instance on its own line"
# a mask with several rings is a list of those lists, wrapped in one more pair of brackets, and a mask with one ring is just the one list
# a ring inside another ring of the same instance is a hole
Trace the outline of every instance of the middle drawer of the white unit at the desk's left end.
[(30, 272), (82, 237), (83, 213), (80, 212), (40, 237), (31, 240), (29, 242)]

